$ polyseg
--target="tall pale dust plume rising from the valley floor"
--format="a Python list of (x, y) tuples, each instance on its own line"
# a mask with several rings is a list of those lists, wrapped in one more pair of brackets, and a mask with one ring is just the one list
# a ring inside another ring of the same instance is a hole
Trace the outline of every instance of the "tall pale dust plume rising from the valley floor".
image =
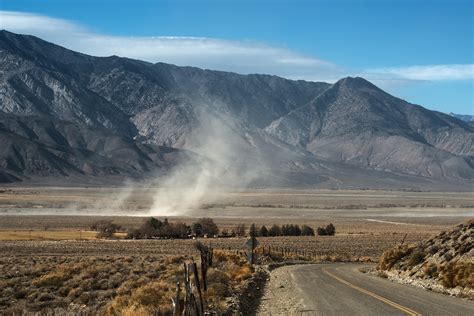
[(188, 137), (185, 149), (196, 153), (171, 173), (159, 178), (150, 215), (176, 216), (219, 200), (226, 189), (245, 188), (261, 176), (258, 149), (236, 133), (232, 119), (199, 113), (200, 125)]

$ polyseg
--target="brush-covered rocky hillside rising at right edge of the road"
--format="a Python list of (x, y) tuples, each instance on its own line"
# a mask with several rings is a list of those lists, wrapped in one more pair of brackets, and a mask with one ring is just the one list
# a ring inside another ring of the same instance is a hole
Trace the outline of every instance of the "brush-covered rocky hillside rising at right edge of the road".
[(385, 252), (378, 268), (395, 281), (474, 299), (474, 219)]

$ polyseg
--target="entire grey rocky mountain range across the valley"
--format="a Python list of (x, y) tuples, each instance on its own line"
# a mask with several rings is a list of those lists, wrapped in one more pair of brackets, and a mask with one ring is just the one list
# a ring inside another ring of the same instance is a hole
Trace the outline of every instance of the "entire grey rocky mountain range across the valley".
[(359, 77), (93, 57), (0, 32), (0, 182), (116, 184), (207, 161), (261, 187), (470, 190), (473, 141), (473, 125)]

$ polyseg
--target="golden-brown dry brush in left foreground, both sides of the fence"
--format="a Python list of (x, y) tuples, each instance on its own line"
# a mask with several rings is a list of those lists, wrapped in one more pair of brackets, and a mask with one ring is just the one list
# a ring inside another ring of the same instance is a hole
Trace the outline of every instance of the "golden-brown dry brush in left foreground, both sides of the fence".
[[(195, 253), (193, 253), (195, 254)], [(197, 257), (196, 257), (197, 258)], [(8, 256), (0, 258), (0, 315), (170, 315), (176, 281), (190, 256)], [(254, 270), (245, 257), (216, 251), (207, 310), (221, 314)]]

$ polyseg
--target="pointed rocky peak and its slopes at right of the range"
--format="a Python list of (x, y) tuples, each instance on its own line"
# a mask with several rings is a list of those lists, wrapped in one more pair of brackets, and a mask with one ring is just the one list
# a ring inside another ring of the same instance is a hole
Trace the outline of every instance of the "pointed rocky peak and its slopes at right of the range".
[(331, 161), (428, 177), (472, 178), (474, 134), (362, 78), (344, 78), (266, 131)]

